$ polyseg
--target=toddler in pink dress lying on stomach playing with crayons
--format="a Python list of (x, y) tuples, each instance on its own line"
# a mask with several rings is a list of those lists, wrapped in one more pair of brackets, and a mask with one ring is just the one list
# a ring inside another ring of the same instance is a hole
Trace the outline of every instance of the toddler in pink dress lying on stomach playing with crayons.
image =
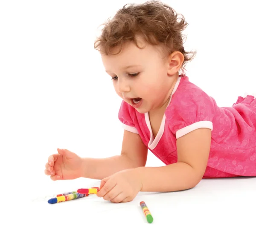
[[(116, 203), (139, 191), (193, 188), (202, 178), (256, 176), (256, 100), (248, 95), (219, 107), (189, 81), (185, 64), (195, 52), (183, 47), (186, 26), (160, 1), (125, 5), (106, 21), (94, 46), (122, 98), (121, 154), (81, 158), (58, 149), (46, 175), (101, 179), (97, 196)], [(165, 165), (145, 167), (148, 150)]]

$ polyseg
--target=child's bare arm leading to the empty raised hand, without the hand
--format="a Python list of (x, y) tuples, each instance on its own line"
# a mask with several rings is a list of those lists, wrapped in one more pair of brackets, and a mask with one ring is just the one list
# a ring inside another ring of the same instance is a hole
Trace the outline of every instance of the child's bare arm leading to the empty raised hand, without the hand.
[(145, 166), (148, 148), (142, 142), (138, 134), (124, 131), (122, 151), (119, 156), (108, 158), (83, 158), (83, 175), (90, 179), (104, 179), (116, 173), (130, 168)]

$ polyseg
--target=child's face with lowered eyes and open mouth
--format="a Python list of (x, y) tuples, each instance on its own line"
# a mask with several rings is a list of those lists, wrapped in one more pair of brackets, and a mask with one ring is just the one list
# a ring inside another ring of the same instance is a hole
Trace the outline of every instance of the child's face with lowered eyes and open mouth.
[(168, 60), (163, 59), (159, 48), (140, 42), (143, 49), (126, 43), (119, 54), (102, 54), (102, 62), (119, 97), (146, 113), (168, 103), (177, 76), (168, 74)]

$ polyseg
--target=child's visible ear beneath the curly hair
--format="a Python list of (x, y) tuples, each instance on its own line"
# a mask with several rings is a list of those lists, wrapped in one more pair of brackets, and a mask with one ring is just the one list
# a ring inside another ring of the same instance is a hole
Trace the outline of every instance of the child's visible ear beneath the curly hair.
[(182, 66), (184, 55), (180, 51), (174, 51), (167, 59), (167, 74), (175, 75)]

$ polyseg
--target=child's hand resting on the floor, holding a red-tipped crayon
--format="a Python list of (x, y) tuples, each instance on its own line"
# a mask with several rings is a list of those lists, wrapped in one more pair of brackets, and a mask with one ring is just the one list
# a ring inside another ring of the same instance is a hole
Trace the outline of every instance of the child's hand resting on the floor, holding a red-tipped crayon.
[(102, 179), (97, 196), (114, 203), (130, 202), (142, 189), (137, 169), (119, 171)]

